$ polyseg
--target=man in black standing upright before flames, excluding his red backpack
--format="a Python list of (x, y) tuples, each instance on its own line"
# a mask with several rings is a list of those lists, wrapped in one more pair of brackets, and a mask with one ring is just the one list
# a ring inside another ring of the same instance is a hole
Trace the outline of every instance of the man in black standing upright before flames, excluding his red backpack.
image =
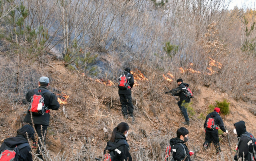
[[(120, 102), (121, 102), (121, 107), (122, 107), (122, 113), (124, 115), (124, 118), (128, 118), (128, 113), (129, 116), (134, 118), (133, 116), (133, 104), (132, 104), (132, 86), (134, 84), (134, 78), (133, 75), (130, 74), (131, 69), (127, 67), (124, 71), (124, 75), (126, 75), (128, 79), (128, 89), (118, 89), (118, 94), (120, 97)], [(122, 75), (120, 76), (122, 77)], [(120, 78), (118, 79), (120, 81)], [(127, 113), (128, 110), (128, 113)]]

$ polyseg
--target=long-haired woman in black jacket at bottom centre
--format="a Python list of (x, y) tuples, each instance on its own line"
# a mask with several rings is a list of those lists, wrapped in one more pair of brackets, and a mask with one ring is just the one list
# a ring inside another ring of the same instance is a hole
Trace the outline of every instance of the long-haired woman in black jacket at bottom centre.
[(107, 146), (104, 150), (104, 154), (110, 153), (111, 160), (115, 161), (132, 161), (132, 156), (129, 153), (130, 147), (127, 143), (126, 137), (128, 136), (128, 130), (130, 127), (127, 123), (121, 122), (114, 128), (110, 141), (107, 142)]

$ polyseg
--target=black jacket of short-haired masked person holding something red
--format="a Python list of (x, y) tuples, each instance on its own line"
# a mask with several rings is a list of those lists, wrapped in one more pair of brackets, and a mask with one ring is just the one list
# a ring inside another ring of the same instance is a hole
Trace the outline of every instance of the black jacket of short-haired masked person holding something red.
[[(170, 139), (170, 145), (172, 147), (172, 156), (175, 161), (176, 160), (177, 161), (190, 161), (188, 147), (183, 140), (179, 139), (178, 137), (172, 138), (172, 139)], [(185, 149), (186, 153), (185, 153), (184, 149)]]

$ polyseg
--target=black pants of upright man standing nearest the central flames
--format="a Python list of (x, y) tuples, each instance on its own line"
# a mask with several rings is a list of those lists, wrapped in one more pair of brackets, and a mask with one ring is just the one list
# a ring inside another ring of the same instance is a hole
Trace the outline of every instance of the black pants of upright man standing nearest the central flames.
[[(123, 115), (133, 114), (133, 104), (132, 104), (132, 95), (131, 94), (119, 94), (122, 113)], [(128, 110), (128, 113), (127, 113)]]

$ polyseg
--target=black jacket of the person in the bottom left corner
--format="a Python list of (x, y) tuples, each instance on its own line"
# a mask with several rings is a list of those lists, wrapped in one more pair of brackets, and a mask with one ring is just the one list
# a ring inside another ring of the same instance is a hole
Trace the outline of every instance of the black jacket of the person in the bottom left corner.
[[(4, 142), (2, 143), (0, 147), (0, 152), (4, 151), (5, 149), (15, 148), (16, 146), (22, 144), (22, 143), (28, 143), (28, 140), (25, 139), (23, 135), (17, 135), (16, 137), (9, 137), (7, 139), (4, 139)], [(19, 149), (19, 157), (18, 161), (32, 161), (32, 154), (30, 153), (31, 148), (29, 144)]]

